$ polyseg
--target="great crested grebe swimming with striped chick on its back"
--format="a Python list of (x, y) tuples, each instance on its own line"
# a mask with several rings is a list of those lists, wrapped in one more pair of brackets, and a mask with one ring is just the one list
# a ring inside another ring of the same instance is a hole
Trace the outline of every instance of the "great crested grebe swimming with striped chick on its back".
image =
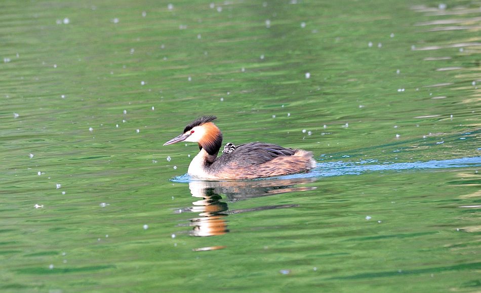
[(315, 167), (312, 153), (275, 144), (251, 142), (235, 146), (227, 143), (222, 155), (222, 133), (212, 123), (215, 116), (203, 116), (189, 123), (184, 132), (166, 142), (196, 142), (199, 153), (192, 159), (188, 174), (201, 179), (252, 179), (309, 171)]

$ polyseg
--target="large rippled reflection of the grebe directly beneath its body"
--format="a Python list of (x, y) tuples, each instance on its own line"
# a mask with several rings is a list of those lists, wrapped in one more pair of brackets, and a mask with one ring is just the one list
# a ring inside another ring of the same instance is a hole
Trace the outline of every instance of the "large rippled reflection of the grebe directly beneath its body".
[[(194, 206), (181, 211), (199, 213), (200, 217), (190, 220), (190, 226), (193, 226), (190, 235), (222, 235), (229, 232), (226, 221), (228, 215), (298, 206), (298, 204), (267, 205), (229, 211), (227, 202), (293, 191), (313, 190), (315, 187), (298, 186), (313, 181), (315, 181), (315, 178), (251, 181), (190, 181), (190, 193), (192, 196), (202, 199), (192, 202)], [(221, 194), (226, 196), (227, 202), (221, 201)]]

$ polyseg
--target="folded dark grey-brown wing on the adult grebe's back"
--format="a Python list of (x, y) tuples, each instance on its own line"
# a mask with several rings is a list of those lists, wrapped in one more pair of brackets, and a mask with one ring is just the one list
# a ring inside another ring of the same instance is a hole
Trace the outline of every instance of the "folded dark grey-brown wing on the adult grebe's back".
[(278, 156), (292, 156), (296, 150), (275, 144), (251, 142), (236, 146), (231, 153), (222, 154), (216, 160), (221, 165), (235, 162), (237, 165), (261, 164)]

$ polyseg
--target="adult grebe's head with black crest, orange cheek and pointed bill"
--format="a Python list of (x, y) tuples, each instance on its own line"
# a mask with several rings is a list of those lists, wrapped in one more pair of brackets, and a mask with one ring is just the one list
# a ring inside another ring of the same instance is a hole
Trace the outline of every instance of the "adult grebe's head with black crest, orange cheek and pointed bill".
[(216, 116), (202, 116), (195, 119), (184, 128), (184, 133), (171, 139), (164, 145), (181, 141), (196, 142), (201, 150), (204, 148), (210, 155), (217, 154), (222, 145), (222, 133), (212, 123), (215, 119), (217, 119)]

